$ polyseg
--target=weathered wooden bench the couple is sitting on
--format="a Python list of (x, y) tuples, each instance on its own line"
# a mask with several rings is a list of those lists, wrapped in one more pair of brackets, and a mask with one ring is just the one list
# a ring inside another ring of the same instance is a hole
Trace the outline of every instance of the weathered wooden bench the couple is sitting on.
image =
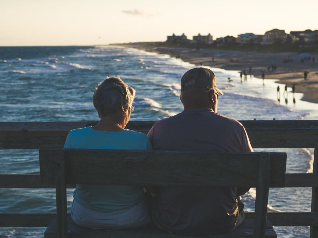
[(230, 233), (202, 237), (277, 237), (266, 221), (269, 187), (284, 187), (286, 153), (180, 152), (137, 150), (39, 150), (42, 183), (56, 183), (57, 219), (51, 237), (189, 237), (149, 224), (110, 230), (77, 226), (67, 215), (66, 185), (118, 184), (192, 187), (255, 187), (255, 216)]

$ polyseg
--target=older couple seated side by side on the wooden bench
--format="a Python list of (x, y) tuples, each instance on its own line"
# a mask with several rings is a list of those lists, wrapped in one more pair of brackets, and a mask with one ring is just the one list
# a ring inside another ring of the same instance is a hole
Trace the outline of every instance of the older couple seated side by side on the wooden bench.
[[(253, 151), (243, 125), (217, 113), (219, 94), (223, 95), (210, 69), (190, 69), (181, 79), (184, 111), (156, 122), (148, 137), (125, 129), (135, 109), (135, 89), (118, 77), (107, 78), (93, 95), (100, 122), (72, 130), (64, 148)], [(136, 228), (151, 219), (171, 233), (219, 234), (244, 220), (240, 195), (248, 190), (159, 187), (151, 201), (150, 217), (142, 185), (77, 184), (71, 214), (76, 224), (87, 228)]]

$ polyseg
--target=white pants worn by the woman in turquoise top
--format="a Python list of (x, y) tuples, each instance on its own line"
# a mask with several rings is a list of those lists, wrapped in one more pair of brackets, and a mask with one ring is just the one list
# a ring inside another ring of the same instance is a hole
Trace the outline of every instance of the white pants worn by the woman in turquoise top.
[(142, 227), (145, 226), (150, 219), (148, 207), (145, 202), (129, 209), (99, 212), (86, 208), (73, 200), (71, 216), (77, 225), (95, 229)]

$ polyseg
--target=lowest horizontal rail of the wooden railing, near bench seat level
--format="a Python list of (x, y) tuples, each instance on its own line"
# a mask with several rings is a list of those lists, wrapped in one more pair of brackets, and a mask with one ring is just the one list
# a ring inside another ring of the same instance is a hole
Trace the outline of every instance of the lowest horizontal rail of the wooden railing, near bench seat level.
[[(0, 227), (47, 227), (55, 218), (55, 213), (0, 213)], [(254, 219), (254, 212), (245, 212), (245, 219)], [(273, 226), (318, 226), (318, 212), (268, 212), (267, 220)]]

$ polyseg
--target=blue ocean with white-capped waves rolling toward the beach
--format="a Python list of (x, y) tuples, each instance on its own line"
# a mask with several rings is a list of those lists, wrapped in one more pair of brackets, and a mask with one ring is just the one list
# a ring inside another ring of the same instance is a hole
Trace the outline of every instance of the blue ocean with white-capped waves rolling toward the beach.
[[(124, 47), (0, 47), (0, 121), (98, 121), (93, 91), (107, 76), (119, 76), (136, 89), (131, 121), (156, 121), (183, 110), (180, 79), (194, 67), (168, 55)], [(243, 76), (241, 82), (237, 71), (211, 69), (224, 92), (218, 100), (220, 114), (238, 120), (317, 119), (318, 104), (301, 101), (302, 94), (293, 95), (291, 88), (284, 98), (280, 84), (278, 102), (274, 80), (263, 84), (261, 79)], [(265, 150), (287, 152), (287, 173), (312, 171), (313, 149)], [(0, 150), (0, 161), (0, 173), (39, 173), (37, 150)], [(72, 192), (68, 189), (69, 209)], [(243, 200), (245, 211), (253, 211), (255, 189)], [(311, 188), (270, 189), (269, 212), (308, 212), (310, 205)], [(56, 212), (55, 189), (0, 188), (0, 213), (17, 212)], [(0, 237), (44, 237), (44, 230), (0, 228)], [(309, 236), (308, 227), (277, 226), (275, 230), (283, 238)]]

